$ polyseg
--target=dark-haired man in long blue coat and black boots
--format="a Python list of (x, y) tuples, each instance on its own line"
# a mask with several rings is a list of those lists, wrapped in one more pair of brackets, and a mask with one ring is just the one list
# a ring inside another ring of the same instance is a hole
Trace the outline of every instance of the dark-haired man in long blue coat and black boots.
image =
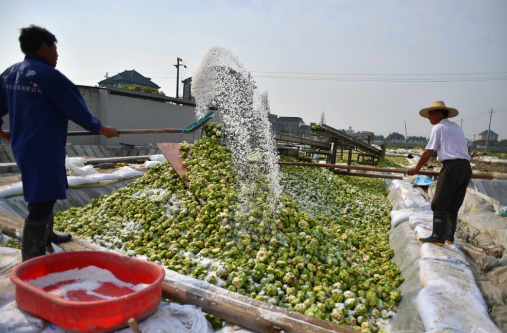
[(12, 141), (12, 152), (23, 179), (28, 203), (21, 252), (23, 261), (44, 255), (46, 246), (68, 241), (70, 234), (53, 231), (53, 206), (66, 199), (65, 143), (68, 121), (107, 138), (118, 137), (113, 127), (104, 127), (86, 107), (78, 87), (55, 69), (56, 37), (45, 28), (21, 29), (22, 62), (0, 75), (1, 117), (9, 114), (10, 133), (0, 129), (0, 138)]

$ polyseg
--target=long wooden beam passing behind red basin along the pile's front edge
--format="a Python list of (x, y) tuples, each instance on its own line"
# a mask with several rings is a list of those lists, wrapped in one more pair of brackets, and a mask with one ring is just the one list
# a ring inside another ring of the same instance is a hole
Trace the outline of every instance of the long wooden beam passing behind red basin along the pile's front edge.
[[(23, 225), (22, 218), (0, 212), (0, 229), (7, 236), (21, 235)], [(105, 250), (77, 238), (59, 246), (67, 251)], [(205, 281), (169, 270), (165, 272), (162, 297), (181, 304), (195, 305), (205, 313), (259, 333), (356, 333), (355, 330), (329, 321), (257, 301)]]

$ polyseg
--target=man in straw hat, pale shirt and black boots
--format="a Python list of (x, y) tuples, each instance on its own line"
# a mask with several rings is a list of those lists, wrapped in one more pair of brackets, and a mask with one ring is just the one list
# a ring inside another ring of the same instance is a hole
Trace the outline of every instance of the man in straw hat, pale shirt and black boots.
[(444, 166), (440, 171), (437, 188), (431, 201), (433, 233), (419, 241), (443, 246), (445, 242), (450, 244), (454, 242), (458, 210), (463, 203), (468, 182), (472, 177), (468, 155), (470, 149), (461, 128), (448, 120), (448, 118), (456, 117), (458, 110), (445, 106), (442, 101), (436, 101), (431, 104), (431, 107), (420, 110), (419, 115), (428, 118), (434, 127), (421, 159), (405, 174), (416, 174), (433, 152), (437, 151), (438, 160)]

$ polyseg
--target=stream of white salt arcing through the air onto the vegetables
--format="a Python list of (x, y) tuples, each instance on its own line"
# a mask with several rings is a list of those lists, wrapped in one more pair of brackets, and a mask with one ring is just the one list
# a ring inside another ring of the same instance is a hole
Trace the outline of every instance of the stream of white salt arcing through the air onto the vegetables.
[(223, 124), (223, 143), (236, 164), (240, 210), (246, 213), (262, 198), (268, 215), (273, 214), (282, 192), (278, 153), (267, 110), (249, 72), (230, 51), (213, 47), (193, 76), (192, 92), (196, 117), (213, 107)]

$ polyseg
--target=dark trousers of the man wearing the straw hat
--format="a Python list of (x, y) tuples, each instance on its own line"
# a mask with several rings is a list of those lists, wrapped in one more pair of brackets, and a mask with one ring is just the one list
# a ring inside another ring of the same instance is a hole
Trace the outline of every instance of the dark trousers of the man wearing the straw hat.
[(472, 168), (467, 160), (447, 160), (442, 164), (431, 210), (436, 214), (457, 214), (472, 178)]

